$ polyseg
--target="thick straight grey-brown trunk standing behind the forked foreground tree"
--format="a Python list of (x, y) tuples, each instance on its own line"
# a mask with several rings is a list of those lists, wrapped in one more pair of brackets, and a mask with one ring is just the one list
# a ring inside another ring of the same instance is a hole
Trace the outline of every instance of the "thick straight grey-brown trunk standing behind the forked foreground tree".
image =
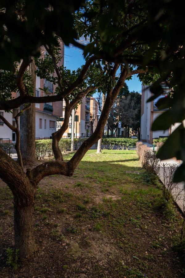
[[(29, 71), (32, 77), (33, 92), (35, 95), (36, 74), (35, 61), (32, 60)], [(20, 107), (20, 110), (23, 106)], [(20, 116), (20, 148), (23, 163), (33, 163), (36, 160), (35, 154), (35, 103), (31, 103), (30, 109)]]

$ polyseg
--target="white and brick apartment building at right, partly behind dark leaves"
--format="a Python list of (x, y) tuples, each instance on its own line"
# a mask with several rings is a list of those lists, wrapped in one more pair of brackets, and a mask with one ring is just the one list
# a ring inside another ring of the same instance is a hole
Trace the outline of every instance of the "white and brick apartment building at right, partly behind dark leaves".
[(154, 101), (148, 102), (152, 93), (148, 86), (142, 85), (142, 97), (141, 97), (141, 141), (152, 144), (153, 138), (167, 137), (170, 134), (170, 130), (158, 130), (152, 131), (151, 127), (154, 120), (167, 109), (158, 109), (156, 103), (160, 98), (165, 98), (169, 92), (169, 88), (162, 84), (164, 93)]

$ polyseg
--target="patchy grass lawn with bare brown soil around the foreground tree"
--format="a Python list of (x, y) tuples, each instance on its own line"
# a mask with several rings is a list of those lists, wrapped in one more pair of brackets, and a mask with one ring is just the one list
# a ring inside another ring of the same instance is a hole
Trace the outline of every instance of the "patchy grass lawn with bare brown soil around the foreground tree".
[(12, 194), (1, 181), (0, 277), (184, 277), (173, 248), (182, 218), (176, 208), (160, 208), (161, 196), (134, 150), (89, 150), (72, 177), (39, 183), (38, 251), (13, 271), (6, 265), (14, 238)]

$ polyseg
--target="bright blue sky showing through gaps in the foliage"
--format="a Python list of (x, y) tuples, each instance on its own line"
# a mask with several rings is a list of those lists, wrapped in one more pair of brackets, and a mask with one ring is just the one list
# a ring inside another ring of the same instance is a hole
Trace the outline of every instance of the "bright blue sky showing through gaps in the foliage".
[[(83, 51), (71, 46), (67, 47), (65, 46), (64, 50), (64, 66), (67, 67), (67, 69), (70, 70), (76, 70), (81, 65), (84, 65), (85, 60), (83, 57)], [(137, 78), (137, 75), (134, 75), (132, 77), (132, 80), (126, 81), (129, 91), (138, 91), (138, 93), (141, 93), (141, 82)]]

